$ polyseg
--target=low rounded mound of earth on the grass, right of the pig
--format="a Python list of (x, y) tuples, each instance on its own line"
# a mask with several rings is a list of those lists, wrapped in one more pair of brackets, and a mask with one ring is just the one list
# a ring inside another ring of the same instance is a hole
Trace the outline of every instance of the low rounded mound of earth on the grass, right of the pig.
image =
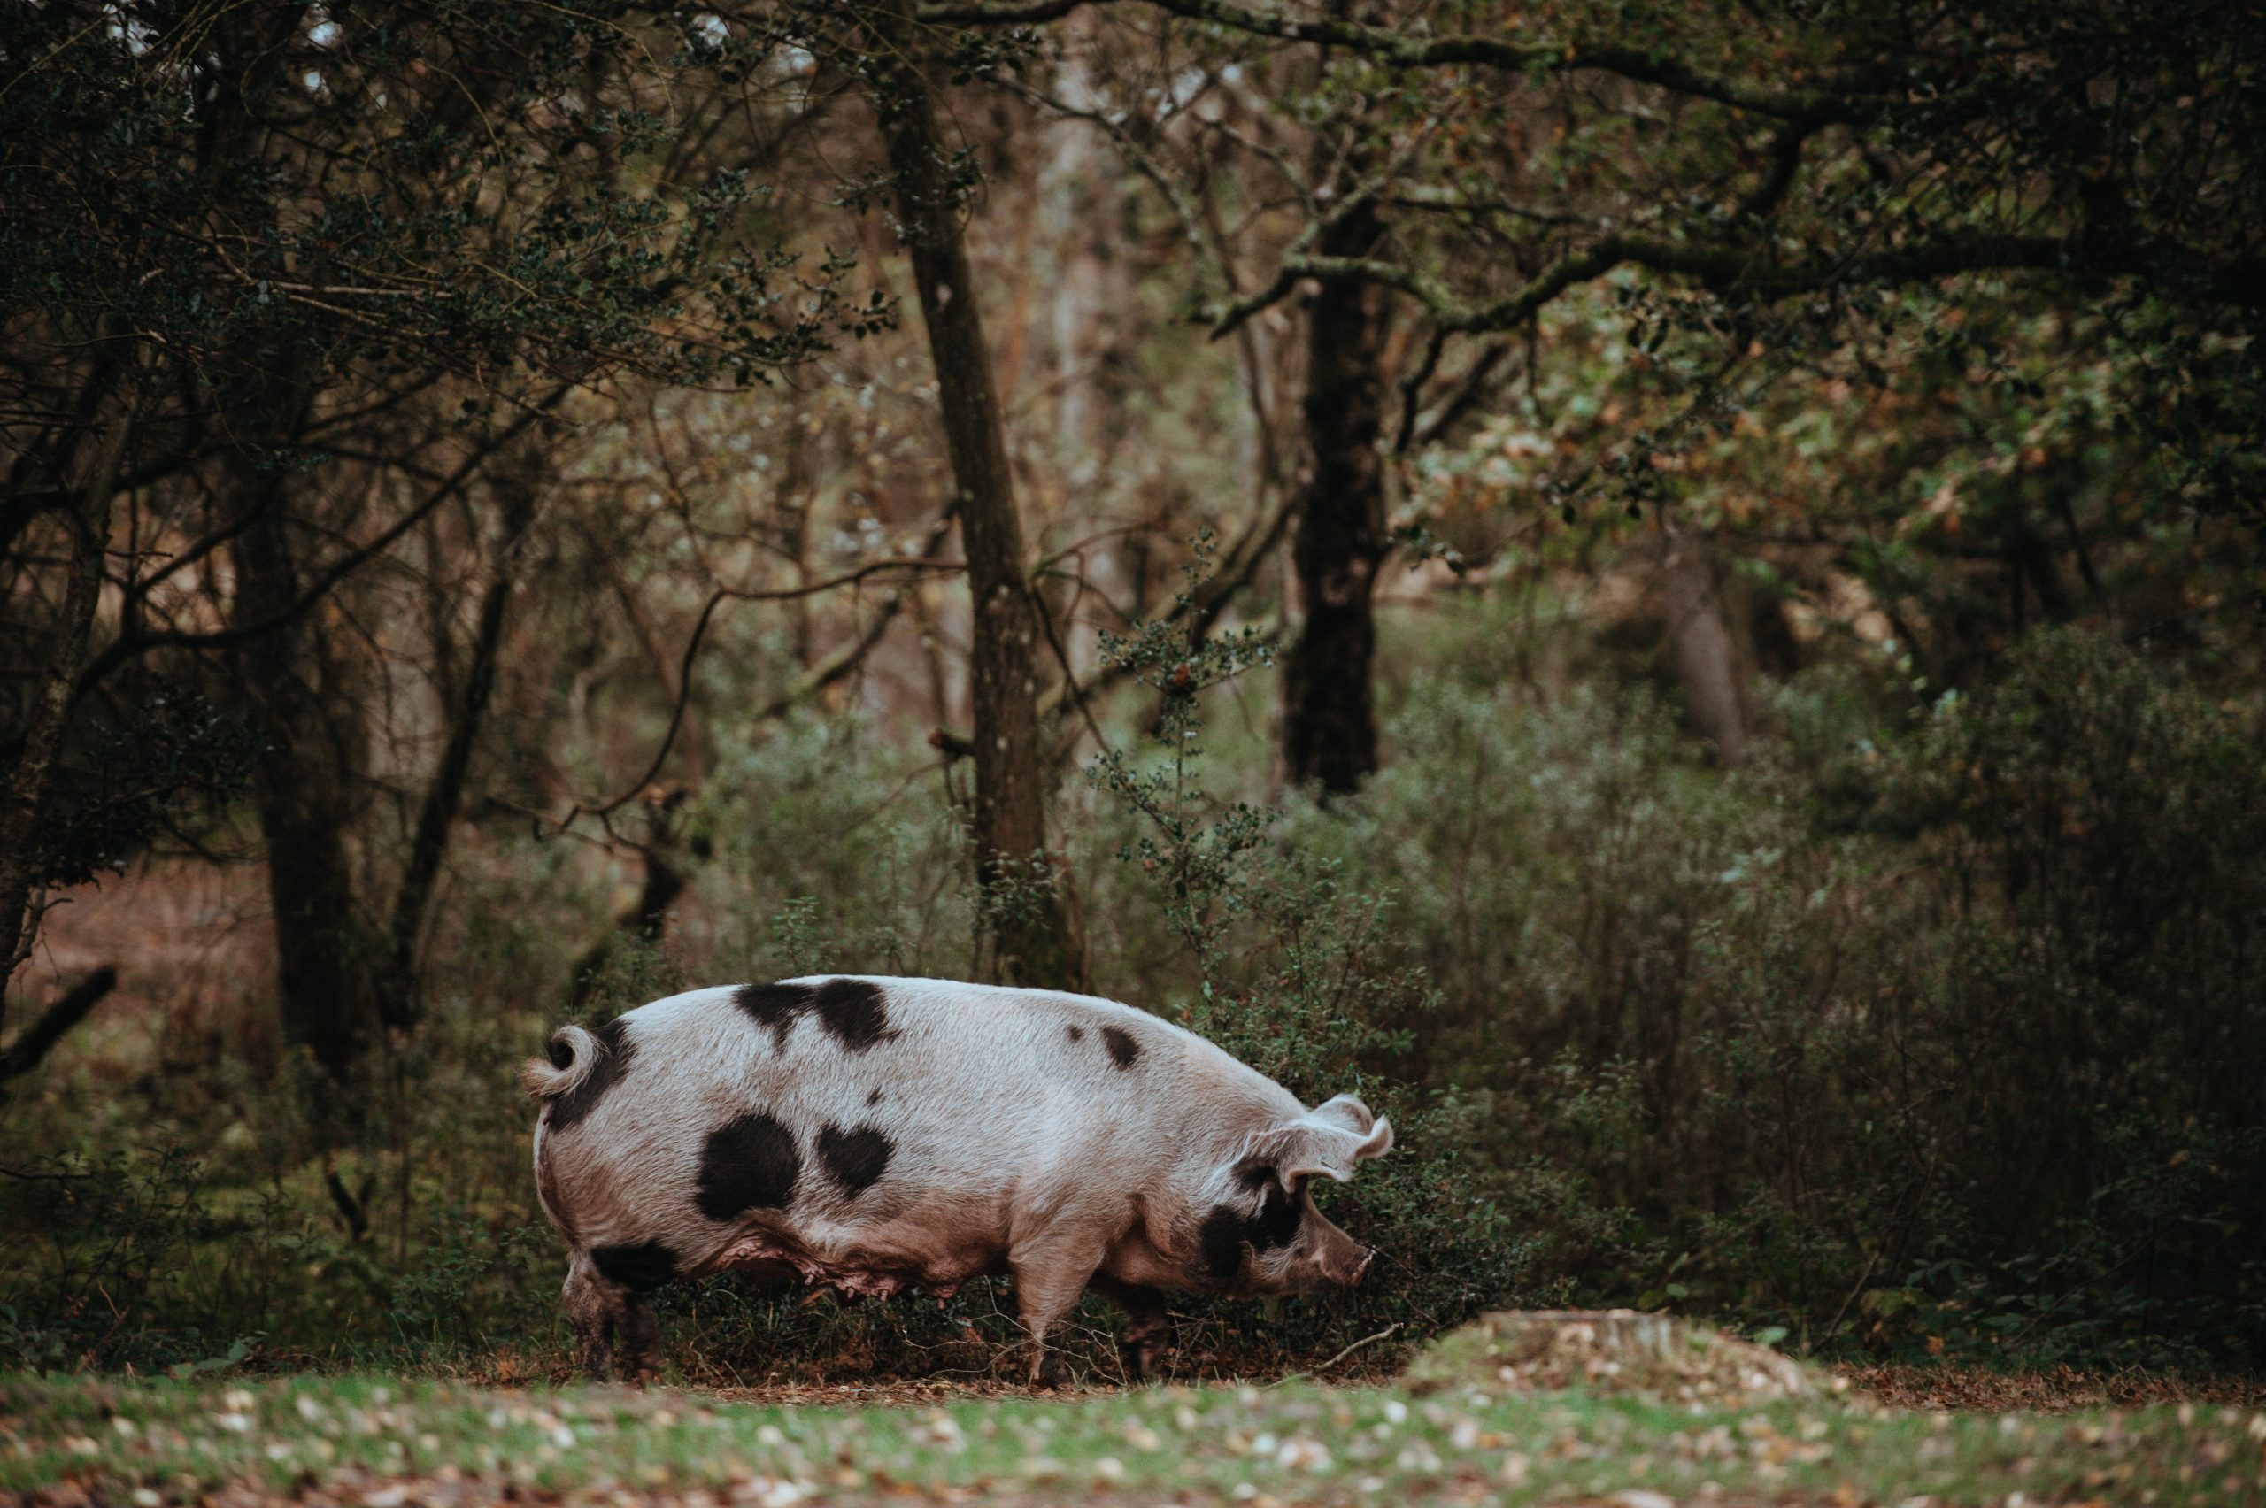
[(1767, 1345), (1634, 1309), (1480, 1316), (1421, 1352), (1409, 1363), (1407, 1388), (1586, 1388), (1729, 1408), (1838, 1390), (1833, 1381)]

